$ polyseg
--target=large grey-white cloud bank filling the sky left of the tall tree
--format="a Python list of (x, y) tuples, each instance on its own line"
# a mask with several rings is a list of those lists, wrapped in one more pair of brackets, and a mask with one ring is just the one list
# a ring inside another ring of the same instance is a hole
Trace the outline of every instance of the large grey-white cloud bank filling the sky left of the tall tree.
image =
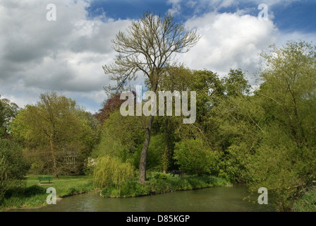
[(111, 40), (130, 21), (104, 15), (87, 20), (85, 0), (54, 1), (56, 21), (48, 21), (50, 3), (0, 0), (0, 95), (23, 107), (39, 93), (56, 90), (99, 107), (105, 97), (99, 93), (109, 83), (102, 65), (115, 56)]

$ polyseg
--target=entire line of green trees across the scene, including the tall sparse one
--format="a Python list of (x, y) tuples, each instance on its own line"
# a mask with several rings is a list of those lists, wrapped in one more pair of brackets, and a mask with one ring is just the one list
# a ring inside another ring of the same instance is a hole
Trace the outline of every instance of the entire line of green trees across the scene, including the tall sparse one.
[[(104, 66), (117, 85), (106, 88), (110, 97), (97, 114), (54, 92), (23, 109), (0, 100), (0, 161), (25, 159), (10, 167), (1, 163), (1, 183), (8, 172), (20, 179), (31, 169), (56, 177), (92, 172), (105, 186), (111, 165), (126, 177), (137, 169), (143, 184), (148, 169), (182, 169), (245, 182), (251, 191), (266, 187), (276, 194), (279, 210), (291, 210), (316, 177), (316, 47), (288, 42), (262, 52), (260, 86), (253, 89), (242, 69), (221, 77), (176, 64), (174, 54), (187, 52), (199, 36), (171, 16), (145, 13), (128, 29), (114, 40), (116, 63)], [(175, 116), (123, 117), (120, 91), (133, 90), (128, 81), (140, 71), (155, 93), (195, 91), (195, 123)], [(75, 157), (75, 164), (67, 157)]]

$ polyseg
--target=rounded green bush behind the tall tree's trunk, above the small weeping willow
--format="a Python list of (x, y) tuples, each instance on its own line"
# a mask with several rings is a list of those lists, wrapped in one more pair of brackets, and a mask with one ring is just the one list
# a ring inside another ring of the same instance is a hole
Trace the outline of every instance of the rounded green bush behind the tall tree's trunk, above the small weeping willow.
[[(142, 117), (123, 117), (119, 110), (112, 112), (109, 119), (104, 121), (100, 143), (92, 156), (118, 157), (122, 162), (133, 162), (138, 169), (145, 136), (145, 130), (141, 128), (143, 122), (145, 121), (142, 121)], [(147, 169), (162, 168), (162, 154), (165, 148), (164, 134), (152, 135), (147, 150)]]

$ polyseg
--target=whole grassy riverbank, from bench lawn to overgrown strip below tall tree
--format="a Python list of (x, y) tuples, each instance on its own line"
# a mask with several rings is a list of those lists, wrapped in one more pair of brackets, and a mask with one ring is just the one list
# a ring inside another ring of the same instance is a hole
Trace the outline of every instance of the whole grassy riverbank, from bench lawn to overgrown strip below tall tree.
[[(159, 175), (159, 177), (157, 177)], [(42, 176), (42, 175), (41, 175)], [(24, 189), (7, 191), (0, 211), (17, 208), (42, 208), (47, 206), (47, 188), (56, 189), (57, 201), (67, 196), (97, 191), (93, 186), (92, 176), (61, 176), (55, 178), (51, 175), (50, 184), (39, 184), (38, 175), (29, 174)], [(163, 194), (173, 191), (186, 191), (214, 186), (231, 186), (228, 180), (218, 177), (172, 177), (170, 174), (153, 174), (145, 185), (138, 183), (138, 179), (124, 182), (123, 186), (116, 188), (108, 186), (102, 189), (103, 197), (136, 197), (152, 194)]]

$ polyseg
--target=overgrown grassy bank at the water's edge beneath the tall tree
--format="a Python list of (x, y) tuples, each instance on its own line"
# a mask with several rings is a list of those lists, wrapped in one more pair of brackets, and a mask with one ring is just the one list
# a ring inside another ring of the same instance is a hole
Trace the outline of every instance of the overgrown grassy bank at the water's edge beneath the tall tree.
[(164, 194), (173, 191), (203, 189), (214, 186), (231, 186), (227, 179), (212, 176), (172, 177), (169, 174), (158, 174), (141, 185), (138, 179), (128, 180), (120, 186), (110, 185), (102, 189), (102, 197), (137, 197), (152, 194)]

